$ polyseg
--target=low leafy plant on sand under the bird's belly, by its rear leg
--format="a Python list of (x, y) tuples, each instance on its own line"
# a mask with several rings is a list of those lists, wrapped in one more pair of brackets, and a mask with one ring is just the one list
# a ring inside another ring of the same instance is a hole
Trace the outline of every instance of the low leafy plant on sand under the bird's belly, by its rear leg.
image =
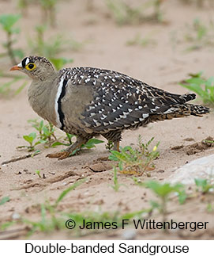
[(150, 139), (148, 143), (143, 143), (141, 136), (138, 137), (138, 149), (130, 146), (120, 147), (120, 152), (111, 151), (109, 159), (118, 162), (118, 168), (123, 174), (148, 174), (148, 170), (154, 169), (153, 160), (159, 156), (156, 151), (159, 143), (149, 151), (148, 147), (152, 143)]

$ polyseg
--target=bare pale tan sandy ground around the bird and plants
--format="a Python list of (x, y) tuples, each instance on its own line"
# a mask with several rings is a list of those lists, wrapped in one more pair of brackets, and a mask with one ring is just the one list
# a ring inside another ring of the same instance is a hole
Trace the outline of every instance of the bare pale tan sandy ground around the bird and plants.
[[(199, 10), (194, 6), (183, 6), (179, 1), (171, 0), (164, 2), (163, 5), (166, 25), (147, 23), (119, 27), (107, 15), (103, 2), (96, 1), (96, 3), (96, 9), (92, 12), (85, 10), (83, 1), (58, 3), (57, 28), (47, 32), (47, 36), (61, 32), (68, 38), (73, 36), (76, 40), (88, 41), (88, 44), (85, 44), (79, 52), (62, 53), (62, 56), (74, 59), (73, 66), (104, 67), (120, 71), (148, 82), (152, 86), (181, 94), (186, 93), (186, 90), (178, 86), (178, 81), (186, 78), (187, 74), (204, 71), (206, 76), (213, 75), (214, 48), (200, 48), (194, 52), (185, 52), (188, 44), (180, 41), (173, 47), (171, 42), (171, 32), (182, 32), (186, 23), (192, 23), (194, 18), (199, 17), (201, 21), (208, 23), (208, 17), (213, 16), (213, 9), (205, 7)], [(16, 13), (14, 1), (0, 2), (0, 13)], [(22, 32), (17, 44), (26, 48), (27, 54), (29, 49), (26, 38), (29, 35), (33, 36), (32, 30), (39, 23), (39, 18), (39, 10), (34, 7), (28, 10), (28, 17), (21, 20)], [(151, 33), (152, 39), (156, 40), (156, 45), (148, 45), (145, 48), (138, 45), (127, 46), (127, 40), (133, 39), (137, 33), (142, 36)], [(4, 36), (1, 30), (2, 40)], [(7, 71), (10, 67), (9, 60), (0, 59), (0, 67)], [(33, 113), (28, 104), (27, 88), (17, 97), (0, 98), (0, 117), (0, 161), (27, 154), (26, 151), (16, 149), (25, 144), (22, 136), (33, 132), (27, 120), (37, 118), (36, 113)], [(211, 147), (194, 152), (193, 155), (186, 154), (188, 145), (200, 142), (208, 136), (214, 136), (213, 121), (214, 116), (211, 113), (201, 118), (188, 117), (149, 124), (148, 127), (139, 128), (134, 132), (124, 132), (121, 145), (133, 143), (133, 147), (137, 147), (139, 134), (145, 142), (154, 136), (156, 142), (160, 141), (160, 157), (155, 161), (156, 169), (151, 172), (152, 177), (141, 179), (167, 181), (175, 167), (214, 153), (214, 148)], [(57, 134), (62, 135), (62, 132), (58, 131)], [(188, 141), (186, 138), (192, 138), (192, 140)], [(171, 149), (182, 145), (184, 147), (181, 149)], [(13, 220), (14, 213), (28, 220), (38, 220), (40, 216), (38, 204), (47, 199), (54, 201), (64, 189), (83, 177), (87, 177), (88, 181), (69, 193), (62, 201), (59, 210), (125, 213), (148, 208), (149, 201), (155, 198), (147, 189), (134, 185), (130, 177), (124, 174), (118, 174), (118, 181), (126, 187), (122, 186), (116, 193), (109, 186), (113, 184), (110, 162), (98, 161), (101, 166), (99, 172), (93, 172), (87, 167), (93, 166), (97, 159), (109, 155), (104, 144), (63, 161), (45, 158), (48, 153), (60, 151), (62, 148), (44, 149), (43, 146), (38, 146), (38, 149), (42, 151), (40, 155), (0, 167), (0, 198), (6, 196), (10, 198), (9, 202), (0, 206), (0, 224)], [(46, 178), (39, 178), (35, 170), (41, 170), (41, 174), (45, 174)], [(201, 201), (201, 198), (194, 197), (181, 206), (173, 200), (169, 204), (169, 217), (182, 221), (210, 221), (212, 223), (213, 214), (206, 211), (206, 205), (212, 199), (206, 197)], [(157, 213), (152, 218), (160, 220)], [(10, 230), (14, 229), (16, 230), (15, 227), (10, 227)], [(122, 239), (124, 232), (122, 230), (108, 231), (99, 235), (87, 235), (81, 239)], [(25, 234), (26, 231), (22, 229), (12, 233), (2, 232), (0, 238), (24, 239)], [(36, 233), (31, 238), (70, 239), (73, 238), (73, 233), (71, 231), (56, 231), (48, 235)], [(137, 230), (134, 238), (213, 239), (213, 225), (209, 226), (206, 231), (174, 232), (166, 235), (163, 235), (162, 231)]]

